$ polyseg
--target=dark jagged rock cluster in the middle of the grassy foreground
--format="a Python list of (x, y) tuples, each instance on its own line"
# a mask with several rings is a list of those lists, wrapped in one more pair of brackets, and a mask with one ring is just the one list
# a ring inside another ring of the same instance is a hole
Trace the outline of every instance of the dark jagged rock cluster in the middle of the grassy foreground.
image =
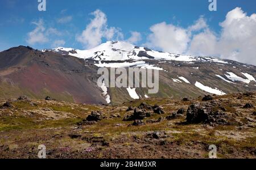
[[(133, 114), (126, 115), (123, 121), (134, 121), (133, 126), (144, 125), (143, 119), (146, 117), (151, 117), (153, 113), (164, 114), (164, 110), (159, 105), (150, 105), (146, 103), (141, 103), (139, 107), (128, 107), (127, 112), (133, 111)], [(160, 122), (162, 120), (148, 120), (148, 122)]]

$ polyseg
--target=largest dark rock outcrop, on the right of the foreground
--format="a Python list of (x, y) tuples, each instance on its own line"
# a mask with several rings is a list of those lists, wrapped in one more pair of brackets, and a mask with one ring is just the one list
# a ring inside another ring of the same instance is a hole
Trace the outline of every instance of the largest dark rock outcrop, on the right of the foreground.
[(210, 124), (210, 125), (229, 125), (229, 120), (233, 120), (221, 109), (216, 109), (216, 103), (192, 104), (188, 107), (187, 122), (189, 124)]

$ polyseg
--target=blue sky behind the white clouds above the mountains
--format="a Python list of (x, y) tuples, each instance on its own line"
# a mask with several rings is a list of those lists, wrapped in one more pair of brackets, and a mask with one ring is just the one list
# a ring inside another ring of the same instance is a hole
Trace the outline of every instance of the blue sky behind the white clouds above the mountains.
[[(91, 13), (100, 10), (106, 16), (104, 27), (108, 30), (113, 27), (116, 32), (122, 34), (122, 40), (128, 40), (131, 32), (138, 32), (140, 39), (133, 41), (135, 45), (147, 45), (155, 49), (165, 49), (161, 45), (150, 45), (152, 41), (149, 36), (152, 34), (151, 27), (155, 24), (166, 22), (166, 25), (174, 25), (175, 28), (188, 29), (199, 18), (203, 18), (207, 27), (220, 37), (224, 27), (220, 26), (224, 22), (229, 11), (236, 7), (241, 7), (246, 16), (255, 13), (256, 1), (254, 0), (217, 0), (217, 11), (209, 11), (208, 0), (94, 0), (94, 1), (64, 1), (46, 0), (47, 11), (38, 11), (38, 0), (1, 0), (0, 1), (0, 50), (11, 46), (30, 45), (33, 48), (53, 48), (54, 45), (85, 49), (92, 45), (82, 43), (81, 36), (86, 25), (90, 24), (95, 15)], [(36, 25), (42, 21), (43, 36), (47, 39), (43, 42), (29, 42), (28, 34), (32, 32)], [(48, 30), (48, 33), (46, 33)], [(168, 32), (167, 32), (168, 33)], [(193, 32), (195, 34), (197, 32)], [(154, 36), (154, 35), (153, 35)], [(192, 35), (193, 36), (193, 35)], [(152, 37), (152, 36), (151, 36)], [(116, 39), (110, 36), (101, 36), (101, 41)], [(119, 37), (120, 39), (120, 37)], [(189, 37), (190, 44), (192, 37)], [(53, 41), (57, 41), (53, 44)], [(186, 50), (176, 50), (187, 53)], [(237, 49), (239, 52), (240, 49)], [(216, 54), (221, 56), (221, 54)]]

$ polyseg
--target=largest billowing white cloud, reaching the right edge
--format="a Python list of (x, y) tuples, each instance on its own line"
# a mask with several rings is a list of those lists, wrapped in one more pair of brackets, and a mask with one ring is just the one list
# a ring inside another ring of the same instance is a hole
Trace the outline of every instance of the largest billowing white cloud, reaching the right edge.
[(247, 16), (241, 8), (228, 12), (220, 35), (204, 29), (193, 36), (189, 53), (220, 56), (256, 65), (256, 14)]

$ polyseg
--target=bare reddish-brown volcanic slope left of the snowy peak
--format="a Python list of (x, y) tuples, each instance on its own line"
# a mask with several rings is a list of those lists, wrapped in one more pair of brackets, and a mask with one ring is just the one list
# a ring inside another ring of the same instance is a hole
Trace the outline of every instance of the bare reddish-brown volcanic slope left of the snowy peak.
[(0, 53), (1, 98), (27, 95), (76, 103), (105, 103), (96, 66), (83, 59), (19, 46)]

